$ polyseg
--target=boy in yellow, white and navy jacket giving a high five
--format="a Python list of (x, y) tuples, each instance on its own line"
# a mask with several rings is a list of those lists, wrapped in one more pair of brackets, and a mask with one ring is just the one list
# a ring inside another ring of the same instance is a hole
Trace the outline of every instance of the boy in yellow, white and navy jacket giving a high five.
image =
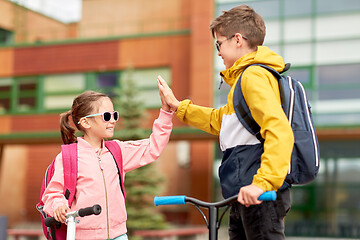
[[(210, 30), (226, 67), (220, 75), (231, 87), (227, 104), (214, 109), (194, 105), (190, 100), (179, 102), (161, 77), (160, 93), (181, 121), (219, 135), (224, 153), (219, 169), (222, 193), (224, 197), (238, 194), (238, 202), (230, 210), (230, 239), (285, 239), (283, 220), (290, 209), (290, 191), (283, 183), (294, 136), (281, 108), (277, 79), (260, 66), (249, 67), (241, 79), (244, 99), (261, 127), (264, 142), (244, 128), (233, 105), (236, 83), (247, 66), (261, 63), (281, 72), (284, 60), (262, 46), (265, 23), (249, 6), (224, 11), (213, 20)], [(275, 202), (258, 200), (270, 190), (277, 191)]]

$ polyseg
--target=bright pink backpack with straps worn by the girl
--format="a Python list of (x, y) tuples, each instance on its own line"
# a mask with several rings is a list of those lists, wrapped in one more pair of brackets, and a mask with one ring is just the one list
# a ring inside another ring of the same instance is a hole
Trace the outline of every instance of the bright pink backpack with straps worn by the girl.
[[(113, 155), (120, 178), (120, 188), (125, 197), (124, 191), (124, 182), (121, 178), (121, 173), (123, 171), (122, 164), (122, 155), (119, 145), (115, 141), (106, 141), (105, 146), (109, 149), (110, 153)], [(61, 145), (63, 167), (64, 167), (64, 196), (68, 200), (69, 207), (75, 197), (76, 191), (76, 181), (77, 181), (77, 144), (67, 144)], [(48, 228), (45, 226), (44, 220), (48, 215), (43, 211), (44, 203), (41, 200), (44, 194), (46, 187), (48, 186), (52, 176), (54, 175), (55, 170), (55, 160), (51, 162), (49, 167), (46, 170), (43, 183), (40, 190), (40, 202), (36, 205), (37, 210), (41, 215), (41, 223), (43, 227), (44, 234), (47, 239), (50, 240), (64, 240), (66, 239), (66, 225), (58, 224), (55, 227)]]

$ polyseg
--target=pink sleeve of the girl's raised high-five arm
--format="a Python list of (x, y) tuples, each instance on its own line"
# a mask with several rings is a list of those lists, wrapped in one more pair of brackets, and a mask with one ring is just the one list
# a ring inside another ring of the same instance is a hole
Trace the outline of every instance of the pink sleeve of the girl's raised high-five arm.
[(154, 121), (152, 133), (148, 139), (139, 141), (118, 141), (121, 148), (124, 172), (129, 172), (149, 164), (159, 158), (172, 131), (174, 113), (160, 109), (159, 117)]

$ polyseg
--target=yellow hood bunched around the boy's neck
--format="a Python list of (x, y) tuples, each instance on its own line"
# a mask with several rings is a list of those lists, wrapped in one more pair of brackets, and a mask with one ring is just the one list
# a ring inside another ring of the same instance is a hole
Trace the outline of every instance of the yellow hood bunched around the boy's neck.
[(227, 84), (232, 86), (247, 66), (256, 63), (267, 65), (278, 72), (281, 72), (285, 67), (284, 59), (280, 55), (268, 47), (258, 46), (257, 51), (246, 54), (238, 59), (232, 67), (221, 71), (220, 76), (223, 77)]

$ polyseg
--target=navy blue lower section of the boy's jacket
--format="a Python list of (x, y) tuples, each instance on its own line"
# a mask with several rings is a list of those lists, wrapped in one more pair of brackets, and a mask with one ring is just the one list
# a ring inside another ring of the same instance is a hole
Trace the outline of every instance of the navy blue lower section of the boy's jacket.
[(260, 168), (262, 144), (242, 145), (227, 149), (219, 168), (221, 191), (224, 198), (239, 193), (249, 185)]

